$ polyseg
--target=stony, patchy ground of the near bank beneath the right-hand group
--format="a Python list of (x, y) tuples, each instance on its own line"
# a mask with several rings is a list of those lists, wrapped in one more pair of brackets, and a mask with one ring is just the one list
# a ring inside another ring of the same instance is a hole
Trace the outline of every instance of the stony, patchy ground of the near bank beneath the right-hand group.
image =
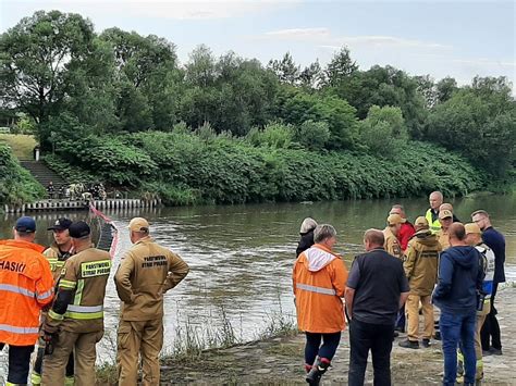
[[(516, 288), (500, 291), (496, 297), (502, 328), (503, 356), (484, 358), (482, 385), (516, 385)], [(392, 352), (394, 385), (441, 384), (443, 359), (440, 343), (419, 350), (403, 349), (396, 338)], [(303, 369), (304, 336), (274, 338), (229, 349), (202, 353), (196, 361), (164, 360), (162, 385), (306, 385)], [(347, 331), (333, 360), (333, 369), (322, 385), (345, 385), (349, 360)], [(367, 383), (372, 384), (372, 365), (368, 364)]]

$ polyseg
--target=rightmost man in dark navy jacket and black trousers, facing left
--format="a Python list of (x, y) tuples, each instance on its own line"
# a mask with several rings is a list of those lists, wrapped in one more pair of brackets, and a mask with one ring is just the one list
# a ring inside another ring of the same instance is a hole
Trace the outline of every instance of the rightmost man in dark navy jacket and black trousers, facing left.
[(494, 297), (496, 296), (496, 289), (499, 283), (505, 282), (505, 238), (503, 235), (493, 228), (489, 213), (479, 210), (471, 213), (471, 220), (482, 231), (483, 242), (493, 250), (494, 252), (494, 278), (493, 278), (493, 292), (491, 295), (491, 311), (486, 317), (483, 323), (482, 332), (480, 333), (482, 340), (483, 356), (489, 354), (502, 354), (502, 341), (500, 337), (500, 325), (496, 320), (497, 311), (494, 307)]

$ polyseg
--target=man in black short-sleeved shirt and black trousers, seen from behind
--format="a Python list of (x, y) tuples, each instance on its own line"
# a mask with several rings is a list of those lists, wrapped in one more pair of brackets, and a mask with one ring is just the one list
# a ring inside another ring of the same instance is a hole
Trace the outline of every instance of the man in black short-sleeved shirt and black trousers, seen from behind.
[(383, 233), (364, 235), (366, 253), (353, 262), (345, 292), (349, 324), (348, 385), (361, 386), (371, 350), (374, 385), (391, 385), (391, 350), (394, 324), (410, 288), (402, 260), (383, 249)]

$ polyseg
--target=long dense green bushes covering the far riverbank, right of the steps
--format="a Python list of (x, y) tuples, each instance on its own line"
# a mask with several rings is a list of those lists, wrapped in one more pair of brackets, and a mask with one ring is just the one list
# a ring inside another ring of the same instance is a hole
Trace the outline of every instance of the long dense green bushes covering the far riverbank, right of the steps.
[[(85, 141), (73, 149), (84, 171), (112, 186), (131, 184), (157, 194), (170, 204), (406, 197), (433, 189), (454, 196), (484, 183), (484, 176), (459, 155), (416, 141), (400, 148), (393, 159), (253, 146), (224, 135), (206, 138), (181, 132), (128, 134), (105, 140), (103, 146), (90, 145)], [(123, 180), (91, 161), (106, 159), (106, 149), (114, 145), (116, 151), (103, 162), (121, 165)], [(83, 157), (86, 148), (88, 157)], [(61, 151), (63, 158), (72, 155)], [(135, 151), (146, 165), (127, 163)]]

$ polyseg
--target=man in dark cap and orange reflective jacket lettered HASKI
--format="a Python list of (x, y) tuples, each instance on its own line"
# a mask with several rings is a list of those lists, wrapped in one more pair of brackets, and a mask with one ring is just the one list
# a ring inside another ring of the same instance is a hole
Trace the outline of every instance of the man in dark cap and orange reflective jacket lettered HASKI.
[(8, 386), (26, 385), (39, 312), (53, 299), (50, 264), (34, 244), (36, 222), (20, 217), (14, 240), (0, 241), (0, 350), (9, 345)]

